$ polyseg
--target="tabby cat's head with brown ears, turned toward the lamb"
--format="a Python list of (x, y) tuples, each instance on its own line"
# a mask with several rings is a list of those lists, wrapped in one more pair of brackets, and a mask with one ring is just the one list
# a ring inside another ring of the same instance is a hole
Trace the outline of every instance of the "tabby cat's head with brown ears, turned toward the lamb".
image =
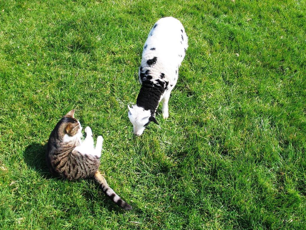
[(57, 130), (58, 136), (60, 136), (64, 142), (69, 142), (82, 136), (82, 126), (74, 117), (74, 109), (70, 110), (62, 117), (55, 129)]

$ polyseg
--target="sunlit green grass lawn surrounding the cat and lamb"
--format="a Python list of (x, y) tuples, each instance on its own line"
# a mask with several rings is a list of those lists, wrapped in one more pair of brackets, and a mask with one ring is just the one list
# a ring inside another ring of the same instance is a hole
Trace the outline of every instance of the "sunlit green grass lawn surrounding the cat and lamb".
[[(159, 107), (136, 137), (127, 105), (165, 16), (189, 48), (169, 119)], [(1, 1), (0, 228), (305, 229), (305, 30), (299, 0)], [(47, 172), (43, 146), (73, 108), (132, 211)]]

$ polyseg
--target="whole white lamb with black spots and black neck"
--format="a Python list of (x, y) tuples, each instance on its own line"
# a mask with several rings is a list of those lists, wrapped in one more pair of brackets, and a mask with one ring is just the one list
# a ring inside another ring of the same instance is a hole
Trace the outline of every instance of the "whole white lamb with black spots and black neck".
[(158, 125), (155, 112), (162, 100), (162, 117), (169, 117), (168, 101), (177, 82), (178, 68), (188, 48), (188, 37), (174, 17), (159, 19), (151, 29), (142, 52), (138, 80), (141, 84), (136, 105), (129, 108), (133, 131), (140, 136), (151, 121)]

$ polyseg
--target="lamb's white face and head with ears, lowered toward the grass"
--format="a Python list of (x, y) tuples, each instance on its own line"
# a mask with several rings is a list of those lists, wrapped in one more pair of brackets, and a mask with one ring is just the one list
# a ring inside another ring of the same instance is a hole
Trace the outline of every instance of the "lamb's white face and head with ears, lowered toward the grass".
[(129, 119), (133, 124), (133, 130), (136, 136), (140, 136), (144, 132), (146, 126), (149, 125), (151, 121), (158, 125), (158, 122), (156, 121), (155, 117), (151, 115), (150, 110), (146, 110), (138, 105), (133, 105), (132, 107), (129, 107), (128, 105), (128, 108)]

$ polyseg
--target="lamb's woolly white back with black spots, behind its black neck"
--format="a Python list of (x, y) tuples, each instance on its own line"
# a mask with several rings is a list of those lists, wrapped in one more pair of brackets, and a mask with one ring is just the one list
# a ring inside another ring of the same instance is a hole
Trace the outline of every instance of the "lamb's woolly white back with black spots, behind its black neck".
[(140, 67), (144, 73), (149, 70), (152, 79), (160, 79), (161, 73), (170, 78), (181, 66), (187, 48), (188, 37), (181, 22), (174, 17), (161, 18), (147, 37)]

